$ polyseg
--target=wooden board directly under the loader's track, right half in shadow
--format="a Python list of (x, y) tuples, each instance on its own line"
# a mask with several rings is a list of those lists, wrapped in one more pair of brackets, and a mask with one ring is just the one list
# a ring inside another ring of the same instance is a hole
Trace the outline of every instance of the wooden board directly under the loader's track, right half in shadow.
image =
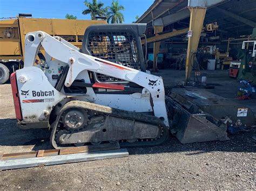
[(120, 148), (119, 143), (106, 143), (106, 144), (100, 144), (100, 145), (88, 145), (88, 146), (79, 146), (79, 147), (71, 147), (71, 148), (60, 148), (59, 155), (114, 150), (114, 149), (118, 149), (118, 148)]

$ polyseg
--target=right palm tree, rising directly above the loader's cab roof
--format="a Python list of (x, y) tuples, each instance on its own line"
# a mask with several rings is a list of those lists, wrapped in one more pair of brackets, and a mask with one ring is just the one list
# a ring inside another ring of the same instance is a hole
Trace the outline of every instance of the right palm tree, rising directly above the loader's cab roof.
[(107, 23), (123, 23), (124, 15), (120, 11), (124, 11), (124, 6), (119, 5), (118, 1), (112, 0), (112, 5), (108, 7)]

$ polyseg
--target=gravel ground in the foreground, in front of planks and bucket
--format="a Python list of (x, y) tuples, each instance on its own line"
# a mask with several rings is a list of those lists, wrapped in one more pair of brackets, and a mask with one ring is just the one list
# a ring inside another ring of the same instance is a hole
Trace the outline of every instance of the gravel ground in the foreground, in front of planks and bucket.
[(130, 156), (0, 172), (1, 189), (252, 189), (250, 133), (227, 142), (130, 148)]

